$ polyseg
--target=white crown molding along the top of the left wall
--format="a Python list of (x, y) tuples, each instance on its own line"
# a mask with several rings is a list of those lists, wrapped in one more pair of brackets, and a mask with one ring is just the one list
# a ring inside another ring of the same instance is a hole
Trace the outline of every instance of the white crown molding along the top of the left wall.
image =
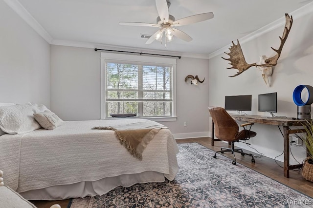
[(13, 11), (15, 11), (31, 28), (33, 28), (48, 43), (52, 41), (50, 34), (39, 24), (39, 22), (22, 6), (18, 0), (3, 0)]

